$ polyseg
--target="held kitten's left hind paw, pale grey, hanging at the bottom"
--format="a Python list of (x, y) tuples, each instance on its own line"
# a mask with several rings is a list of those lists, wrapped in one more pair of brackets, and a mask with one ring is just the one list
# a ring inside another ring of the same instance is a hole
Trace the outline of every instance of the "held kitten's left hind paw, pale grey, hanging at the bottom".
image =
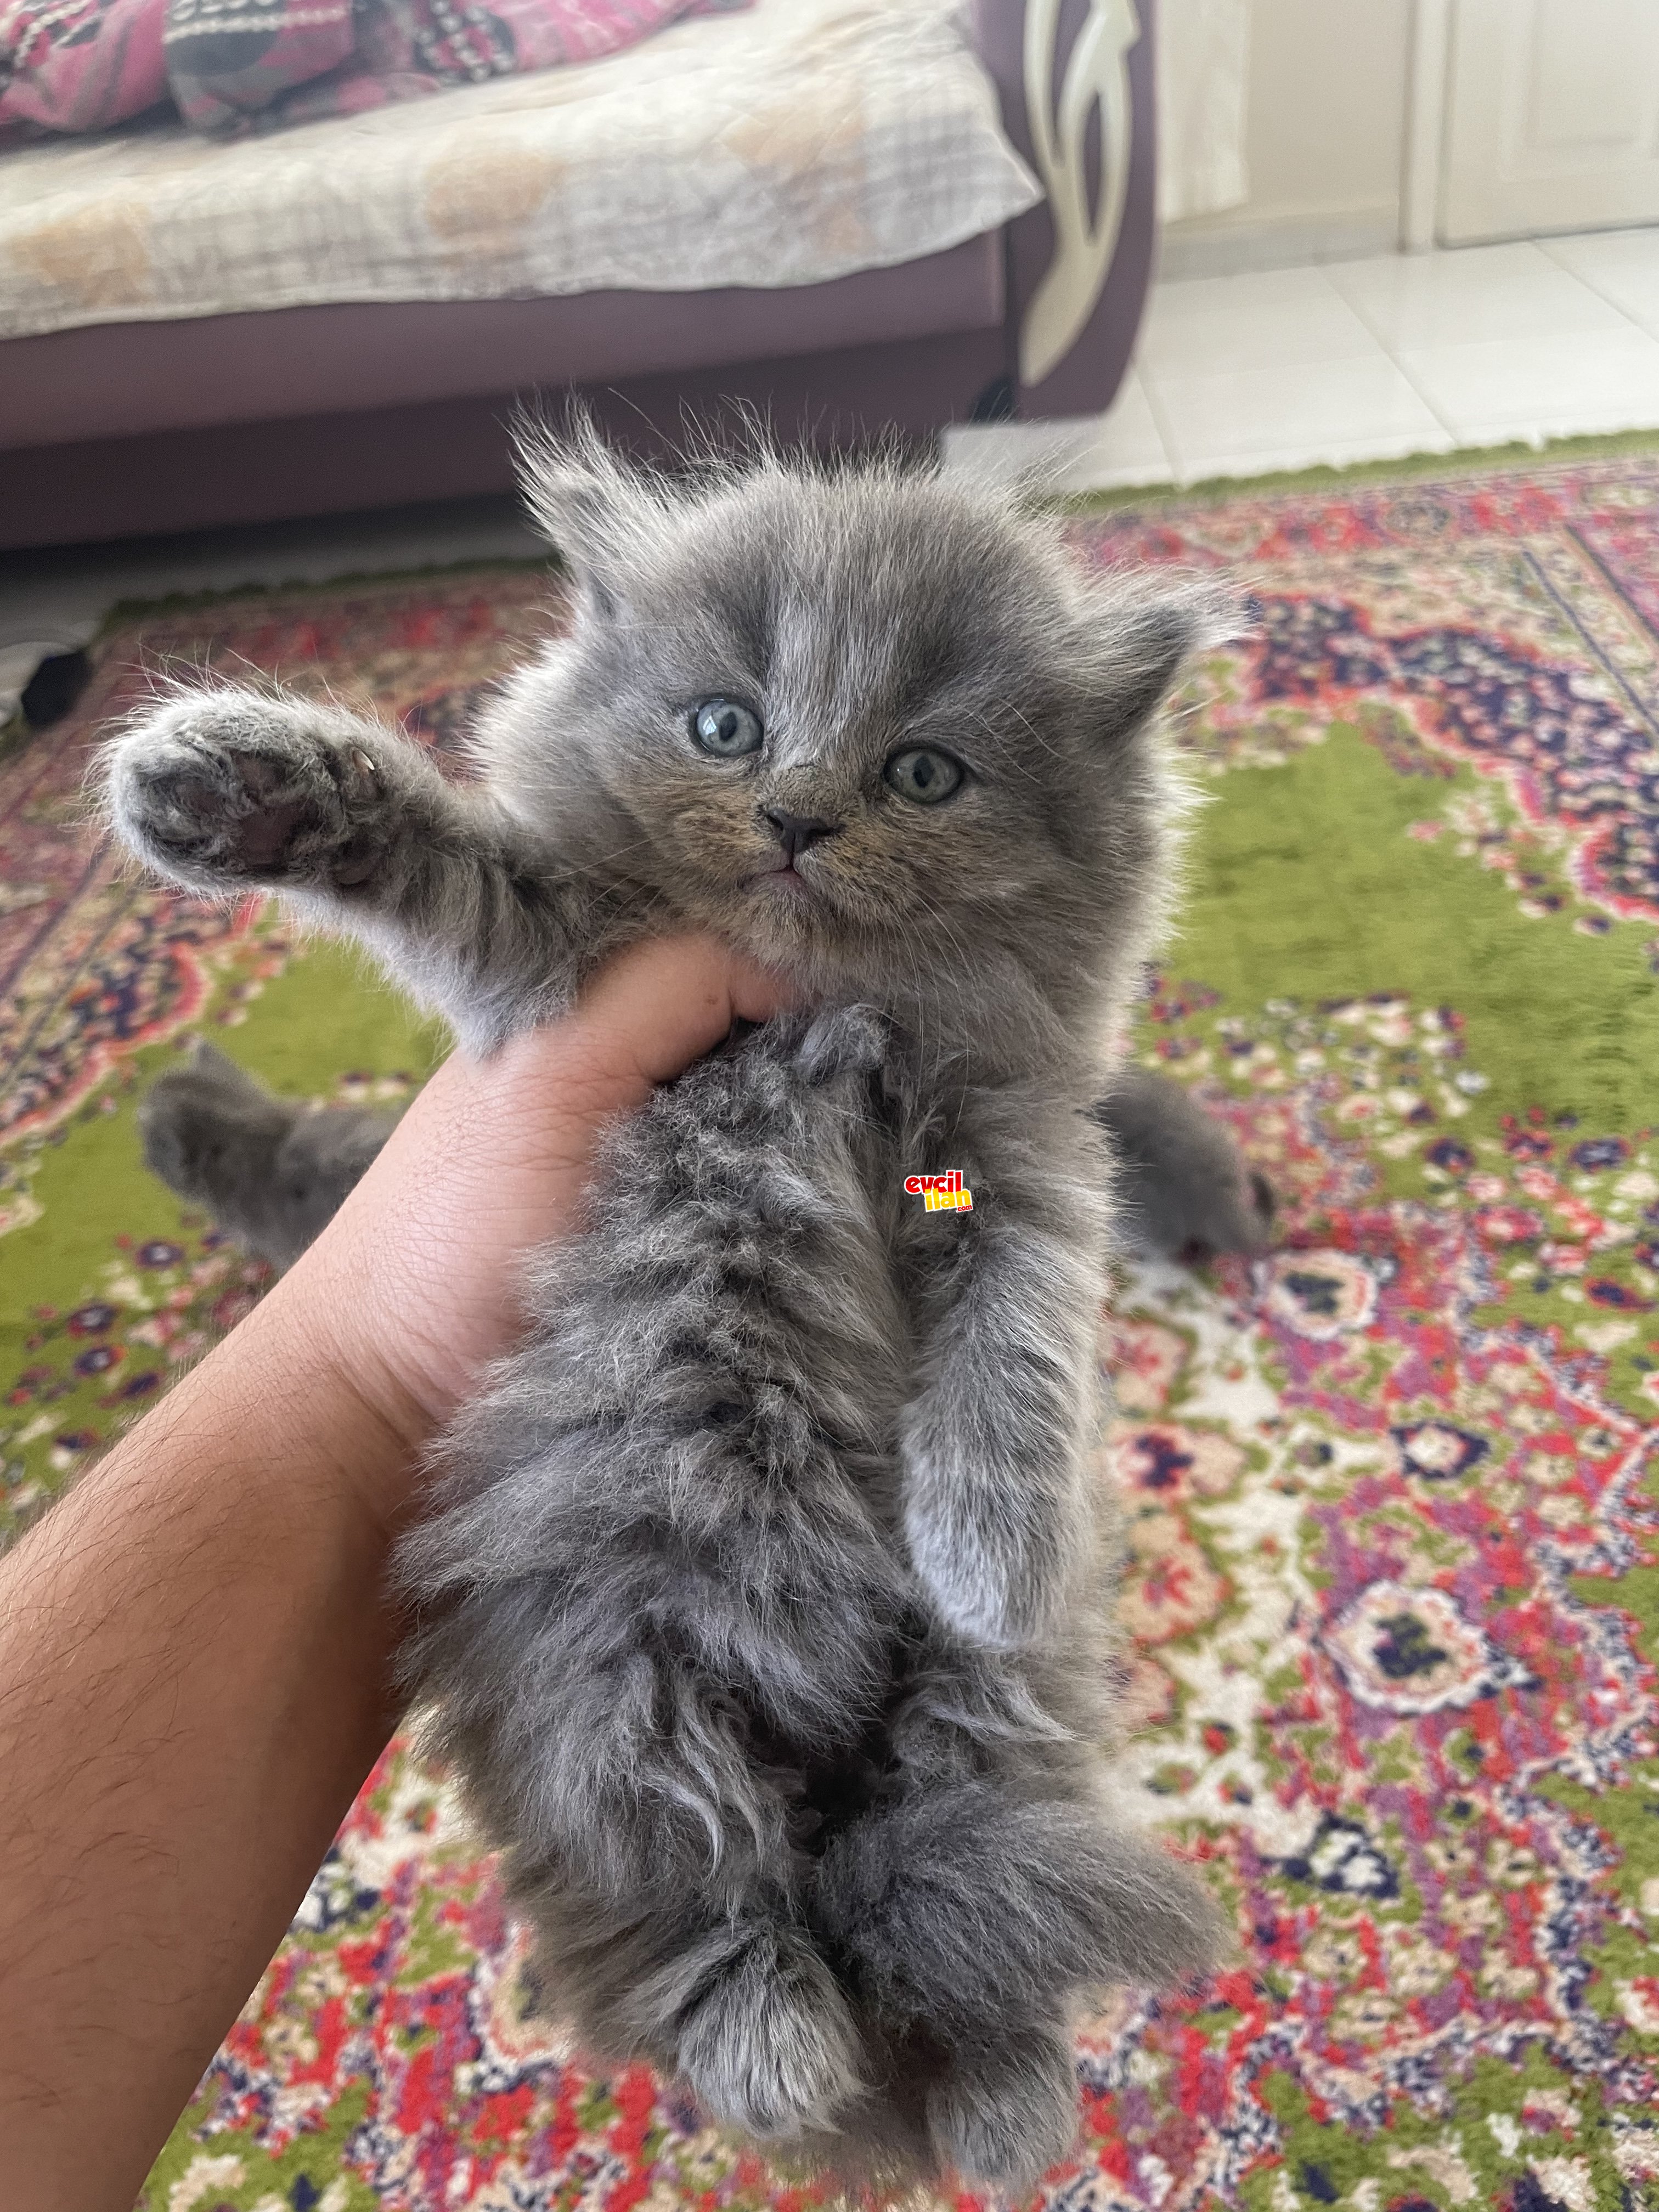
[(858, 2035), (834, 1975), (805, 1940), (770, 1929), (681, 2022), (679, 2066), (710, 2119), (761, 2139), (832, 2128), (860, 2095)]

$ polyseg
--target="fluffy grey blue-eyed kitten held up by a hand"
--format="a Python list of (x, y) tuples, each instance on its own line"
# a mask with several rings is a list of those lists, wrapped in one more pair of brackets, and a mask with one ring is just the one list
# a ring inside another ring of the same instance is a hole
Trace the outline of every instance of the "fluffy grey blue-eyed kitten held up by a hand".
[[(531, 498), (575, 619), (476, 783), (219, 688), (113, 743), (111, 818), (356, 936), (471, 1051), (641, 936), (792, 978), (799, 1013), (611, 1130), (538, 1256), (403, 1544), (405, 1679), (591, 2048), (843, 2170), (1026, 2188), (1075, 2137), (1077, 2008), (1217, 1940), (1102, 1803), (1088, 1482), (1091, 1106), (1170, 885), (1155, 710), (1214, 615), (896, 465), (668, 484), (580, 438)], [(279, 1261), (385, 1135), (217, 1055), (170, 1082), (155, 1164)], [(1102, 1108), (1141, 1234), (1261, 1241), (1148, 1082)], [(949, 1168), (971, 1212), (905, 1194)]]

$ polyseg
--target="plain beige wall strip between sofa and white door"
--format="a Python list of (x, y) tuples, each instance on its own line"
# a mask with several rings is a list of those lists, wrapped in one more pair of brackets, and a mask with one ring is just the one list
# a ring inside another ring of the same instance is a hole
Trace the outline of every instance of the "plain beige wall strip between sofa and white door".
[(1411, 0), (1252, 0), (1248, 199), (1164, 228), (1161, 272), (1208, 276), (1400, 237)]

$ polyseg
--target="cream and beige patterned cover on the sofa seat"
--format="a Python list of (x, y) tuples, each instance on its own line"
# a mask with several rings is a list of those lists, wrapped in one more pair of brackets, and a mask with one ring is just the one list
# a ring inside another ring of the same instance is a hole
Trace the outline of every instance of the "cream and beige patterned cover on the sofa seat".
[(0, 336), (314, 301), (805, 285), (1040, 197), (947, 0), (759, 0), (250, 137), (0, 157)]

